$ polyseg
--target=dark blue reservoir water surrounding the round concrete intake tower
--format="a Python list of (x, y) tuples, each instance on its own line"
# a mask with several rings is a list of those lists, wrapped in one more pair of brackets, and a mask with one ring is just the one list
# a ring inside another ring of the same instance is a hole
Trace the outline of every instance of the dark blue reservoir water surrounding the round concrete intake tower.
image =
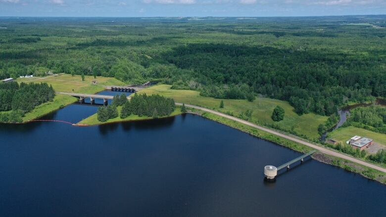
[(0, 125), (0, 216), (386, 216), (385, 185), (315, 160), (264, 181), (299, 155), (194, 115)]

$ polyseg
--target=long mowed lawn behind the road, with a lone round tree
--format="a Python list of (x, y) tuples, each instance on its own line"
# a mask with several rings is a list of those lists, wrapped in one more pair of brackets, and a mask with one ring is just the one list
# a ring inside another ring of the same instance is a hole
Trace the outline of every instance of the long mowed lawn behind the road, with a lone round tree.
[[(246, 110), (252, 110), (252, 122), (262, 125), (276, 124), (282, 129), (287, 131), (294, 130), (297, 133), (307, 135), (311, 139), (319, 138), (318, 126), (325, 123), (328, 118), (313, 113), (299, 116), (288, 102), (270, 98), (256, 98), (253, 102), (241, 99), (223, 99), (224, 108), (220, 109), (221, 99), (203, 97), (194, 90), (175, 90), (170, 89), (170, 87), (170, 85), (156, 85), (143, 89), (139, 93), (160, 94), (171, 97), (176, 102), (207, 107), (223, 113), (233, 112), (235, 116)], [(271, 119), (272, 111), (277, 105), (283, 107), (286, 111), (284, 120), (280, 122), (274, 122)]]

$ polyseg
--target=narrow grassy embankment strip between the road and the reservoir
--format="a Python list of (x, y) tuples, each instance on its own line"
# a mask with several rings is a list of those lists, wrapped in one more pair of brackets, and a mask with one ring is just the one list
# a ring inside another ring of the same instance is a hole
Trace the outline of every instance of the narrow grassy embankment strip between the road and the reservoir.
[[(196, 114), (200, 114), (201, 116), (208, 118), (210, 120), (225, 124), (225, 125), (230, 126), (232, 128), (235, 128), (235, 129), (244, 131), (246, 133), (249, 133), (251, 135), (275, 142), (277, 144), (283, 145), (285, 147), (288, 147), (290, 149), (293, 149), (293, 150), (296, 150), (296, 151), (299, 151), (302, 153), (306, 153), (306, 152), (312, 150), (312, 148), (310, 148), (306, 145), (302, 145), (300, 143), (282, 138), (280, 136), (265, 132), (263, 130), (258, 130), (256, 128), (241, 124), (241, 123), (233, 121), (233, 120), (229, 120), (227, 118), (224, 118), (224, 117), (212, 114), (212, 113), (205, 113), (205, 112), (201, 113), (200, 111), (195, 111), (195, 110), (193, 112)], [(383, 173), (383, 172), (380, 172), (380, 171), (377, 171), (377, 170), (374, 170), (374, 169), (371, 169), (371, 168), (368, 168), (368, 167), (365, 167), (365, 166), (362, 166), (360, 164), (356, 164), (356, 163), (353, 163), (353, 162), (350, 162), (347, 160), (343, 160), (343, 159), (340, 159), (337, 157), (323, 154), (321, 152), (317, 152), (317, 153), (313, 154), (312, 158), (314, 158), (318, 161), (327, 163), (327, 164), (331, 164), (331, 165), (343, 168), (347, 171), (361, 174), (367, 178), (377, 180), (379, 182), (386, 184), (386, 173)]]

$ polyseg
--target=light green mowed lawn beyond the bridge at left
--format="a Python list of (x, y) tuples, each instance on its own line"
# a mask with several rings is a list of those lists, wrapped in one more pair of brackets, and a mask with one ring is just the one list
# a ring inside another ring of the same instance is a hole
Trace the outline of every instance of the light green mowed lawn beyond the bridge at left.
[[(97, 84), (93, 84), (93, 81), (96, 80)], [(94, 79), (94, 76), (85, 76), (85, 81), (82, 81), (80, 75), (71, 76), (69, 74), (63, 74), (58, 76), (47, 76), (47, 77), (34, 77), (34, 78), (18, 78), (16, 80), (18, 83), (21, 82), (34, 82), (41, 83), (45, 82), (48, 85), (52, 85), (55, 91), (59, 92), (74, 92), (77, 93), (97, 93), (104, 90), (103, 85), (116, 85), (116, 86), (125, 86), (126, 84), (115, 79), (115, 78), (106, 78), (98, 76)]]

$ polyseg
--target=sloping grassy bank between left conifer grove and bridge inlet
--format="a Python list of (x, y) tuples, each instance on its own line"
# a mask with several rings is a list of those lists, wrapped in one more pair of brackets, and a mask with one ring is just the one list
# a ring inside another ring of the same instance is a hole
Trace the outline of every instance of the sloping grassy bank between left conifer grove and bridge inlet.
[(45, 116), (51, 113), (52, 111), (58, 110), (76, 101), (77, 101), (77, 98), (75, 97), (72, 97), (69, 95), (56, 94), (52, 102), (46, 102), (41, 105), (38, 105), (34, 108), (34, 110), (26, 113), (25, 116), (23, 117), (23, 122), (28, 122), (28, 121), (40, 118), (42, 116)]

